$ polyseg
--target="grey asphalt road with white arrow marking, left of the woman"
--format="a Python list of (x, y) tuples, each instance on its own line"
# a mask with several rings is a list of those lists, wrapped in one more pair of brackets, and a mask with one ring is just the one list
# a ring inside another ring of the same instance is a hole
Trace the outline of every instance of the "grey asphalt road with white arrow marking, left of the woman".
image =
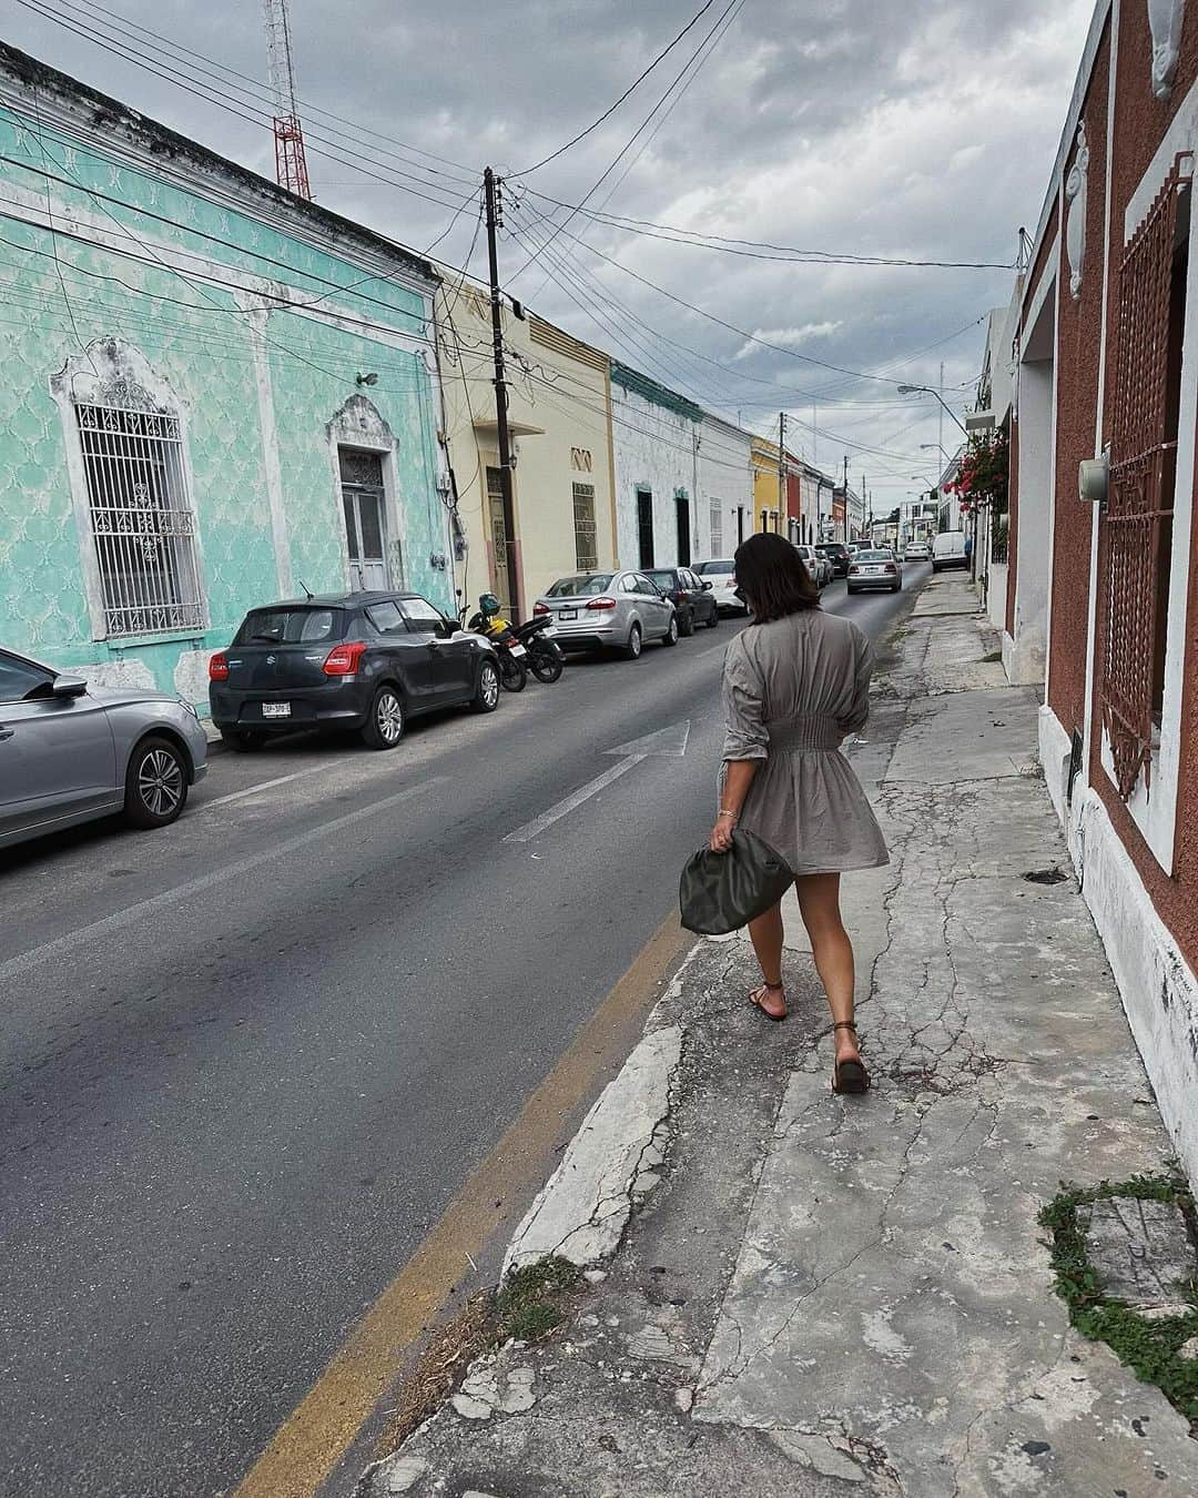
[(674, 906), (734, 628), (4, 855), (0, 1492), (237, 1485)]

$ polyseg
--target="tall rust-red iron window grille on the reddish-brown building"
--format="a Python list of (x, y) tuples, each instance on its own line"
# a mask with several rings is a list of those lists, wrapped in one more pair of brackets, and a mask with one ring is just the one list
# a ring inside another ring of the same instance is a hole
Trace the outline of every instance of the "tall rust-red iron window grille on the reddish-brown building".
[(1191, 175), (1179, 156), (1119, 270), (1099, 695), (1123, 800), (1150, 785), (1164, 700)]

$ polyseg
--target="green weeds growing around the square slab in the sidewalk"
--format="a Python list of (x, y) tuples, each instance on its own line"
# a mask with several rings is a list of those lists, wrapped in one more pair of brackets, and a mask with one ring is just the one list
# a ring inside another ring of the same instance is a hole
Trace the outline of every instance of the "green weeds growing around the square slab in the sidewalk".
[(1198, 1336), (1198, 1284), (1179, 1287), (1179, 1303), (1188, 1302), (1183, 1315), (1152, 1321), (1134, 1306), (1104, 1294), (1086, 1251), (1086, 1234), (1078, 1207), (1111, 1197), (1138, 1201), (1168, 1201), (1186, 1215), (1195, 1228), (1195, 1204), (1185, 1176), (1170, 1170), (1159, 1176), (1132, 1176), (1080, 1189), (1062, 1182), (1059, 1195), (1041, 1210), (1041, 1227), (1053, 1234), (1053, 1273), (1057, 1294), (1069, 1306), (1069, 1321), (1092, 1341), (1107, 1347), (1146, 1384), (1156, 1384), (1165, 1398), (1191, 1422), (1198, 1434), (1198, 1359), (1179, 1357), (1192, 1336)]

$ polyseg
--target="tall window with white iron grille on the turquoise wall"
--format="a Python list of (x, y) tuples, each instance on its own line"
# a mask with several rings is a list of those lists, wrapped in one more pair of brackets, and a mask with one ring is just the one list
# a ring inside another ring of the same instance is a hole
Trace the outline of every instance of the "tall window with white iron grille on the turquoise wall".
[(76, 406), (105, 635), (207, 625), (178, 416)]

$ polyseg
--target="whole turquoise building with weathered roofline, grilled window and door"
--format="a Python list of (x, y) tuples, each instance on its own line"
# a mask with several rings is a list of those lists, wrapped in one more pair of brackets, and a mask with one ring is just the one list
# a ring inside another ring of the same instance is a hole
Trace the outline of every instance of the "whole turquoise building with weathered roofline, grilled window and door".
[(419, 256), (0, 43), (0, 644), (204, 703), (246, 608), (454, 596)]

